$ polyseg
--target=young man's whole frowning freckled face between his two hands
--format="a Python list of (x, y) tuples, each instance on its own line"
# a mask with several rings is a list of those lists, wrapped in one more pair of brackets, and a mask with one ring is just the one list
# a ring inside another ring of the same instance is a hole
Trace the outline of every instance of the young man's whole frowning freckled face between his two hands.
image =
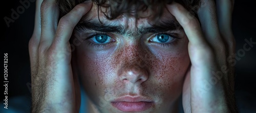
[(179, 28), (175, 17), (164, 10), (156, 22), (141, 18), (136, 23), (125, 16), (109, 20), (97, 8), (94, 4), (83, 19), (87, 29), (74, 31), (83, 41), (72, 56), (91, 101), (101, 112), (177, 107), (190, 61), (185, 33), (173, 29)]

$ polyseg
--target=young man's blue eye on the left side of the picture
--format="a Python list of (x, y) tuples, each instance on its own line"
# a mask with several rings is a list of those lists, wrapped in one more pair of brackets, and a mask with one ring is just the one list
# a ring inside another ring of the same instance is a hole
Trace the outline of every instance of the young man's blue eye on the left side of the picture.
[(91, 38), (95, 43), (109, 43), (111, 42), (111, 37), (105, 34), (97, 34)]

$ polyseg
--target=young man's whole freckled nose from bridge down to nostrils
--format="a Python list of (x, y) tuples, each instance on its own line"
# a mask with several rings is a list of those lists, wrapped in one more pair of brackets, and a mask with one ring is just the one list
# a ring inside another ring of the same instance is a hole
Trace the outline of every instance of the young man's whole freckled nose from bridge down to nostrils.
[(147, 50), (136, 45), (124, 48), (125, 53), (119, 57), (121, 68), (118, 70), (119, 78), (125, 83), (142, 83), (148, 79), (148, 69), (143, 55)]

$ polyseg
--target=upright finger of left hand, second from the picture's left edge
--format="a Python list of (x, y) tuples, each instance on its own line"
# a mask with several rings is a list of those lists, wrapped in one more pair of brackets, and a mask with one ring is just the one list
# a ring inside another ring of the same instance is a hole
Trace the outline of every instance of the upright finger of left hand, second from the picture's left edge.
[(54, 0), (44, 0), (41, 4), (41, 39), (40, 43), (51, 44), (59, 17), (59, 10)]

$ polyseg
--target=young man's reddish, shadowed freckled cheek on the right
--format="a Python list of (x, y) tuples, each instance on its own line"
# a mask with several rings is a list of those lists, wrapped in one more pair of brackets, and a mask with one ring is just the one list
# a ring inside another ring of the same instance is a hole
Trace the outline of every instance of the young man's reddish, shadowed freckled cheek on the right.
[(184, 76), (190, 62), (187, 49), (157, 54), (161, 54), (161, 58), (157, 63), (153, 63), (153, 79), (157, 80), (159, 89), (165, 92), (164, 100), (177, 99), (182, 92)]

